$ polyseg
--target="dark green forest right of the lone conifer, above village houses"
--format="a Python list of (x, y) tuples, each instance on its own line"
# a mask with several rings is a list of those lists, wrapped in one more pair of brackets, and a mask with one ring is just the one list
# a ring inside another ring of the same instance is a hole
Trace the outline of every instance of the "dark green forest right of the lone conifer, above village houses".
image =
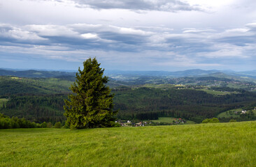
[(222, 111), (245, 106), (256, 100), (256, 93), (247, 91), (216, 96), (201, 90), (141, 87), (113, 89), (113, 93), (114, 109), (119, 109), (118, 118), (121, 120), (173, 117), (200, 123)]

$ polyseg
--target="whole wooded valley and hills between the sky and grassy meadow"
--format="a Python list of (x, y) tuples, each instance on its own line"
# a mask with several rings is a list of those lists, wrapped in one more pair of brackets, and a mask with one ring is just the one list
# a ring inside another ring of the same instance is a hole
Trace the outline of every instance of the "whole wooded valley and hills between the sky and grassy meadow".
[[(205, 118), (218, 117), (228, 122), (233, 117), (220, 113), (256, 106), (253, 77), (203, 70), (186, 72), (177, 72), (176, 77), (168, 72), (110, 74), (108, 86), (115, 94), (118, 120), (139, 122), (171, 117), (200, 123)], [(4, 107), (0, 105), (0, 112), (38, 123), (63, 123), (64, 99), (71, 93), (69, 86), (74, 79), (73, 72), (6, 72), (6, 76), (0, 77), (1, 101), (5, 101)], [(236, 116), (236, 120), (255, 120), (255, 116)]]

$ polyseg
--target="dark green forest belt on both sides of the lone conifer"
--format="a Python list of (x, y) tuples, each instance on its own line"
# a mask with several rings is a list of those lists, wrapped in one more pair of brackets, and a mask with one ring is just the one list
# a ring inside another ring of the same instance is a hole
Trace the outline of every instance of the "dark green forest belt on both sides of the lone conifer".
[[(243, 92), (215, 96), (202, 90), (127, 88), (112, 91), (115, 109), (121, 120), (152, 120), (162, 116), (185, 118), (201, 122), (229, 109), (255, 105), (256, 93)], [(63, 122), (64, 99), (67, 94), (13, 95), (0, 110), (8, 116), (18, 116), (34, 122)]]

